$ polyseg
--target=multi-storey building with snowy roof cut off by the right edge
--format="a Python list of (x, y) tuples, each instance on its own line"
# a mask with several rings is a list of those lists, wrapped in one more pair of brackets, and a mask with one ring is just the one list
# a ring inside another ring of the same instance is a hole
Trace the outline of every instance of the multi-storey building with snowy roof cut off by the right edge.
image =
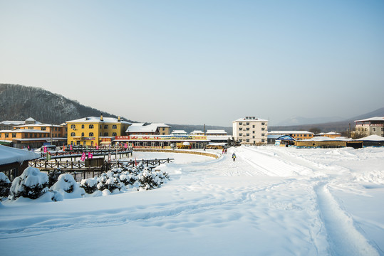
[(356, 120), (355, 136), (366, 137), (378, 135), (384, 137), (384, 117), (370, 117), (368, 119)]

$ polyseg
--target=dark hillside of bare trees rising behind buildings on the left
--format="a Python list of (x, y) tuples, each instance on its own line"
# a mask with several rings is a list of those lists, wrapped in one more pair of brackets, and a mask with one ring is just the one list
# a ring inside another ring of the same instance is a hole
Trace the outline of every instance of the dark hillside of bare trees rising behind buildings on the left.
[[(25, 120), (61, 124), (82, 117), (100, 116), (102, 111), (47, 90), (23, 85), (0, 84), (0, 121)], [(105, 117), (117, 117), (103, 112)]]

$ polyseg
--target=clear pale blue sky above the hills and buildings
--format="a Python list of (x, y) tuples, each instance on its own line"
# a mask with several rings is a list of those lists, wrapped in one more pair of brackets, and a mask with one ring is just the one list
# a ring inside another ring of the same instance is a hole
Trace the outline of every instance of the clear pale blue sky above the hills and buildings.
[(139, 122), (384, 107), (384, 1), (0, 0), (0, 82)]

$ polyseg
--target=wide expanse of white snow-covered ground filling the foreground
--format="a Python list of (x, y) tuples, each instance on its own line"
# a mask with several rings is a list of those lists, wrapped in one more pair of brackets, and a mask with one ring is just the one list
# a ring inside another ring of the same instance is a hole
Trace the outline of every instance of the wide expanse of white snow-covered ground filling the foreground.
[(134, 156), (175, 158), (160, 166), (171, 180), (3, 203), (1, 255), (384, 255), (384, 148)]

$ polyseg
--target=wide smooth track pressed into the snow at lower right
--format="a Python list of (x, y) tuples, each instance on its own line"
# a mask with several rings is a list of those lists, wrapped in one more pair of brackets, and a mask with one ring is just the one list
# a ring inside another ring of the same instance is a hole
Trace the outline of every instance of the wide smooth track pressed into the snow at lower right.
[(368, 240), (356, 230), (353, 218), (347, 215), (328, 190), (326, 183), (315, 186), (318, 208), (328, 235), (332, 255), (379, 255)]

